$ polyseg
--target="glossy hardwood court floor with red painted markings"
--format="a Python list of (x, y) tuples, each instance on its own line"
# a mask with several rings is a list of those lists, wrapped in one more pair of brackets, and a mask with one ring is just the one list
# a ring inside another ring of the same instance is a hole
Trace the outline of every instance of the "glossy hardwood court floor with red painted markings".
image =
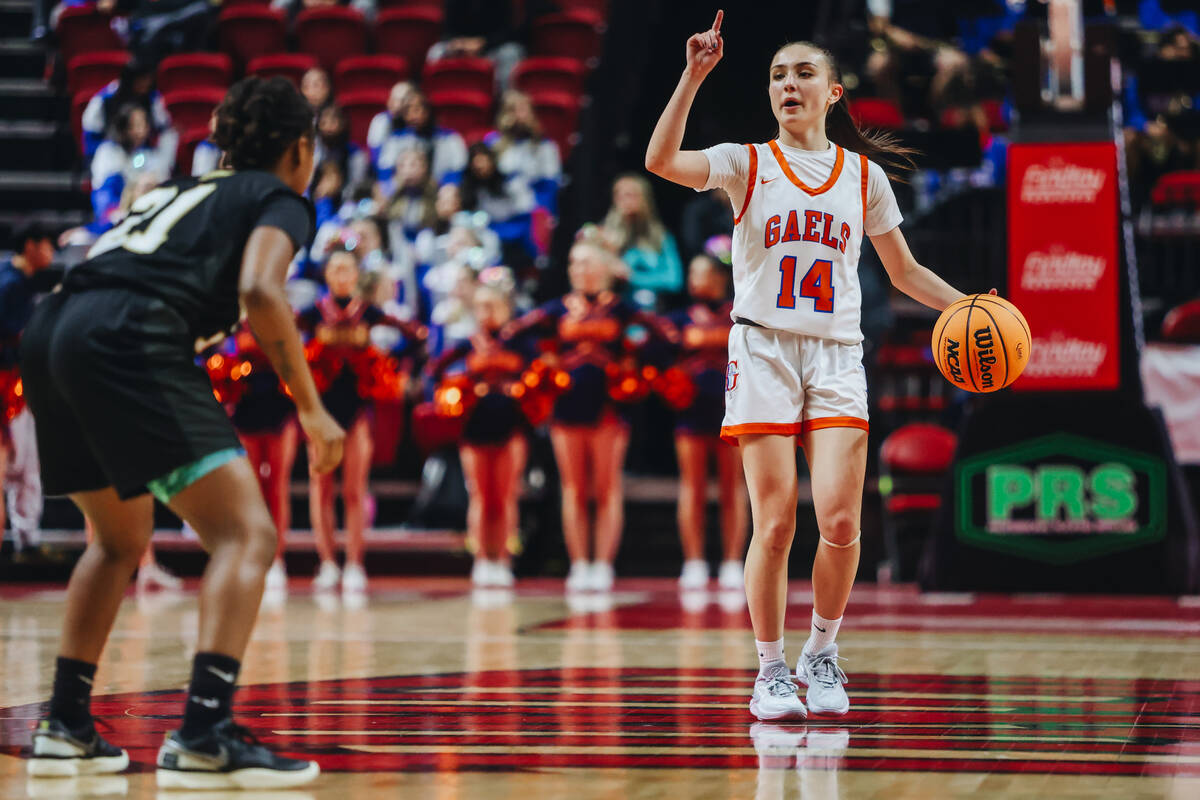
[[(791, 591), (788, 649), (811, 597)], [(157, 793), (194, 596), (130, 597), (96, 680), (119, 777), (30, 782), (62, 591), (0, 591), (0, 798), (1200, 798), (1200, 599), (919, 595), (860, 587), (842, 718), (756, 724), (737, 595), (623, 581), (472, 593), (377, 579), (365, 606), (299, 581), (266, 604), (240, 721), (322, 763), (304, 790)]]

